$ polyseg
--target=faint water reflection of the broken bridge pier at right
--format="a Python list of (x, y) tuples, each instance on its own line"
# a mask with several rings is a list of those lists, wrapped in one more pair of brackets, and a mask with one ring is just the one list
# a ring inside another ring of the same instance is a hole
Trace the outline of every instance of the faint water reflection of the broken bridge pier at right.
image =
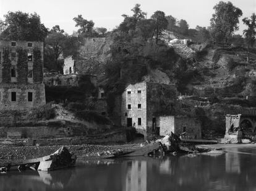
[(239, 153), (237, 153), (237, 148), (234, 148), (231, 152), (226, 153), (226, 172), (233, 174), (241, 173), (241, 164)]

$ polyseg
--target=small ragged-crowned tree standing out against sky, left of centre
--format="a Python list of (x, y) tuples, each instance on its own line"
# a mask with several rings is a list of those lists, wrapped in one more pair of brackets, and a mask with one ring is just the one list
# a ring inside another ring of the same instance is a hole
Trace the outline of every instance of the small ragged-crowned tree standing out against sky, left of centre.
[(92, 20), (83, 19), (82, 15), (78, 15), (73, 19), (75, 21), (75, 27), (80, 27), (78, 32), (83, 35), (92, 35), (92, 30), (94, 27), (94, 22)]

